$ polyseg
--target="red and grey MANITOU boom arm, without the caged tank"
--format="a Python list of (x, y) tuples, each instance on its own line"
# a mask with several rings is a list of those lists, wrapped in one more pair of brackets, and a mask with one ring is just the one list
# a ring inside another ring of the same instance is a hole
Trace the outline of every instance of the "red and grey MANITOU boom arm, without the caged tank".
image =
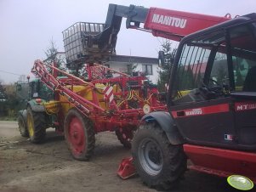
[[(144, 8), (130, 5), (110, 4), (105, 20), (105, 30), (97, 37), (100, 47), (111, 42), (115, 48), (122, 18), (127, 18), (126, 27), (149, 31), (153, 36), (180, 41), (193, 32), (230, 20), (230, 14), (218, 17), (206, 14), (192, 14), (164, 8)], [(140, 26), (144, 24), (144, 26)]]

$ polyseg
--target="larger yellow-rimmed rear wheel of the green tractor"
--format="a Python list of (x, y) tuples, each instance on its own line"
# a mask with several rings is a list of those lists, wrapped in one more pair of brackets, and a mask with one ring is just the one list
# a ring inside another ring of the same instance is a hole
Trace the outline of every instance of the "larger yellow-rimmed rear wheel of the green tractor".
[(47, 122), (44, 112), (35, 112), (27, 108), (27, 131), (32, 143), (43, 142), (46, 135)]

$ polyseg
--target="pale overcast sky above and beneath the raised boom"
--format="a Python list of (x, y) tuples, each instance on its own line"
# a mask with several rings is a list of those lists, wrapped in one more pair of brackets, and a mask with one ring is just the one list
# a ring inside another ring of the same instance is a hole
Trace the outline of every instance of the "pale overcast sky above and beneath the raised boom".
[[(61, 32), (75, 22), (104, 23), (109, 3), (233, 17), (256, 8), (256, 0), (0, 0), (0, 80), (15, 82), (19, 75), (29, 75), (33, 61), (45, 59), (51, 39), (64, 51)], [(160, 42), (161, 38), (123, 25), (117, 54), (157, 57)]]

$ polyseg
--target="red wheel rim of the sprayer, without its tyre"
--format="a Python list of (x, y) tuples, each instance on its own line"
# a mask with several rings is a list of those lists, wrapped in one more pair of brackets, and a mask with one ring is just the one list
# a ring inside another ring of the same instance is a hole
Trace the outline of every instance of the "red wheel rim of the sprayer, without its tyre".
[(81, 154), (82, 151), (85, 149), (86, 138), (84, 135), (82, 121), (80, 121), (76, 116), (71, 118), (68, 129), (68, 136), (73, 154)]

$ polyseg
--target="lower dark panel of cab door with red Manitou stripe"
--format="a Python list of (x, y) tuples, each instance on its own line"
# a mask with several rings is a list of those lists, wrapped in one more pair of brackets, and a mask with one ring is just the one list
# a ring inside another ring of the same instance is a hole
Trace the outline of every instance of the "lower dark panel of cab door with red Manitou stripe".
[(189, 143), (231, 146), (236, 142), (230, 98), (211, 99), (171, 108), (181, 134)]

